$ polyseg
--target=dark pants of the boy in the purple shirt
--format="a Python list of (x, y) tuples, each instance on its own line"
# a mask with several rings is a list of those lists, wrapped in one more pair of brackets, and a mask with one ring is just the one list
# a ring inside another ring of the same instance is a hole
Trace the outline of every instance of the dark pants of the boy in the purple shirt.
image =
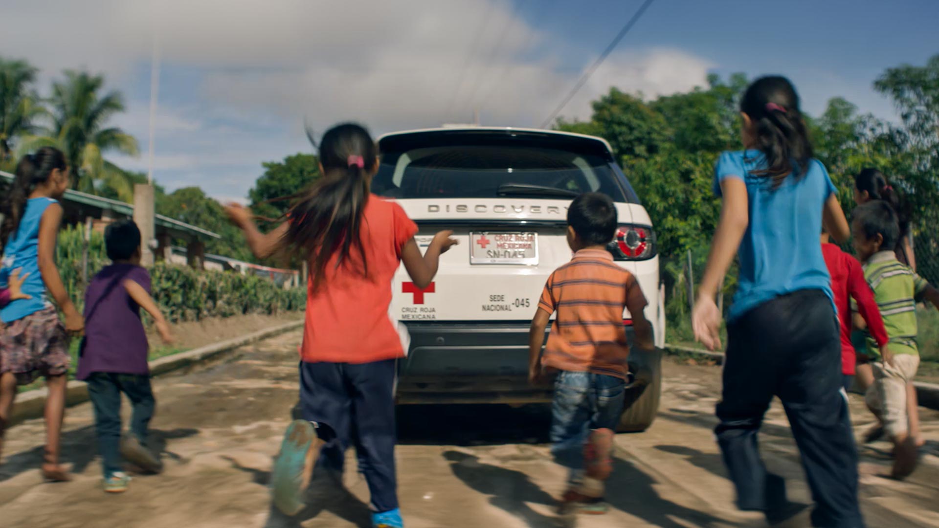
[(120, 394), (131, 400), (131, 433), (146, 445), (146, 429), (153, 418), (156, 400), (149, 376), (95, 372), (86, 380), (88, 397), (95, 409), (95, 429), (104, 477), (121, 471), (120, 457)]

